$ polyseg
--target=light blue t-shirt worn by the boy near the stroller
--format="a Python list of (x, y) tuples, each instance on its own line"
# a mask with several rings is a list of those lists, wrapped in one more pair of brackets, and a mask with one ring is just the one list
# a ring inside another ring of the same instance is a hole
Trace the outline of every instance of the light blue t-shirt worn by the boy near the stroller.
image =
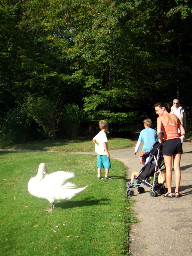
[(152, 128), (145, 128), (140, 132), (139, 141), (143, 141), (144, 145), (142, 151), (150, 152), (153, 143), (159, 140), (156, 130)]

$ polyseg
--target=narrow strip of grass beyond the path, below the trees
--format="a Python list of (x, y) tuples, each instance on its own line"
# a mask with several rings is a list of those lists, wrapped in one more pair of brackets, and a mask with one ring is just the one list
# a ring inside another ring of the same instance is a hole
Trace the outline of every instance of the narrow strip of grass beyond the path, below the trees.
[[(108, 140), (109, 151), (112, 149), (130, 148), (131, 146), (132, 142), (129, 139), (111, 138)], [(90, 152), (94, 151), (95, 144), (92, 142), (92, 140), (62, 140), (0, 145), (0, 147), (4, 149)]]

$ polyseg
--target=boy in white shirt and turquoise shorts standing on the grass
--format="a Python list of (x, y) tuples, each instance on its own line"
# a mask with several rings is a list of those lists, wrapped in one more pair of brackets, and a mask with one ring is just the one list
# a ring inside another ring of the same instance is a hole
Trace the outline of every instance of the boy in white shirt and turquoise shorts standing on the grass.
[(95, 143), (95, 152), (97, 153), (97, 179), (104, 179), (101, 176), (101, 168), (105, 168), (105, 179), (113, 180), (108, 176), (109, 169), (111, 168), (107, 145), (108, 139), (105, 133), (108, 129), (108, 122), (101, 120), (99, 122), (99, 128), (101, 131), (92, 139), (93, 143)]

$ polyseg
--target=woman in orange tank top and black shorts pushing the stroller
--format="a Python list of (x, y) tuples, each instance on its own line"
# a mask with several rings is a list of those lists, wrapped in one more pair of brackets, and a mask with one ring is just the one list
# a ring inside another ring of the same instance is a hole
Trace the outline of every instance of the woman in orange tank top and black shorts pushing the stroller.
[[(181, 179), (180, 172), (180, 159), (182, 151), (182, 144), (180, 136), (185, 134), (180, 120), (176, 115), (170, 114), (171, 107), (169, 104), (159, 102), (155, 104), (157, 117), (157, 136), (163, 143), (163, 156), (166, 167), (166, 182), (167, 182), (167, 193), (164, 197), (180, 197), (179, 185)], [(180, 133), (178, 133), (178, 128)], [(164, 138), (161, 133), (161, 129), (164, 132)], [(171, 183), (172, 183), (172, 159), (173, 168), (175, 171), (175, 195), (172, 194)]]

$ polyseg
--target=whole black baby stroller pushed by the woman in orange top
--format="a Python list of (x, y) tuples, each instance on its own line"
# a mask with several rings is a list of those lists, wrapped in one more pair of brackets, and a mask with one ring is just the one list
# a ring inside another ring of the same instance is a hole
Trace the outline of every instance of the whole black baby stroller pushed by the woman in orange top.
[[(164, 184), (158, 183), (158, 169), (161, 171), (165, 170), (165, 165), (163, 159), (163, 146), (161, 143), (156, 141), (150, 150), (148, 163), (141, 168), (133, 182), (127, 185), (127, 196), (134, 196), (134, 191), (130, 189), (133, 185), (137, 187), (137, 191), (140, 194), (144, 193), (145, 189), (140, 187), (141, 184), (152, 189), (150, 192), (151, 197), (155, 197), (158, 194), (165, 194), (167, 192), (167, 188), (165, 188)], [(139, 183), (133, 184), (135, 180), (139, 180)]]

